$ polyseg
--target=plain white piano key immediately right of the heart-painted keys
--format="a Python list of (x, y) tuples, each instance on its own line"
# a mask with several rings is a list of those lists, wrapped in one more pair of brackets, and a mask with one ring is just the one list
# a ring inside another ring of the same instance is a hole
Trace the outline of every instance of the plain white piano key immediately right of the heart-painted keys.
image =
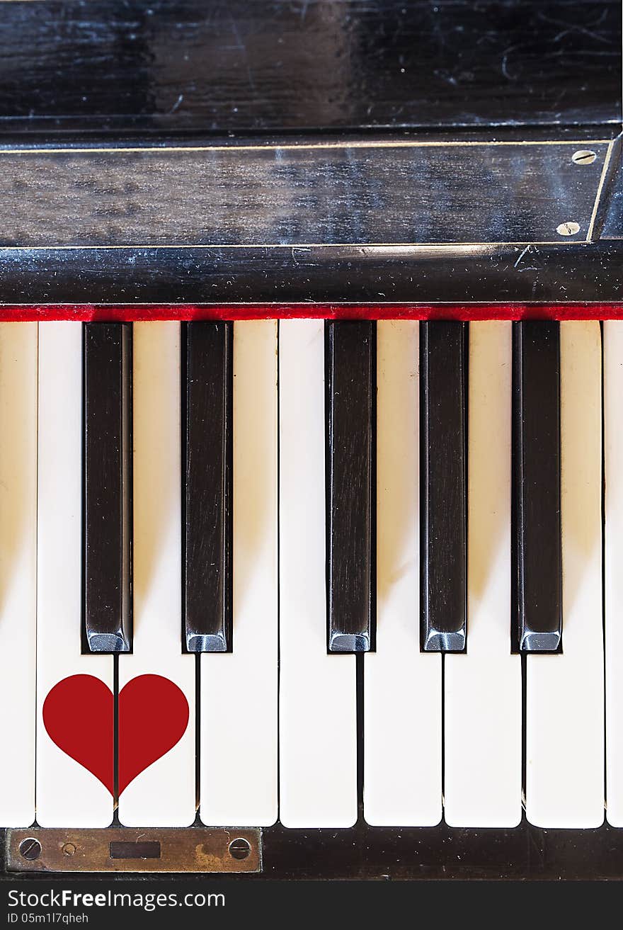
[(233, 327), (232, 653), (201, 657), (200, 816), (277, 817), (277, 324)]

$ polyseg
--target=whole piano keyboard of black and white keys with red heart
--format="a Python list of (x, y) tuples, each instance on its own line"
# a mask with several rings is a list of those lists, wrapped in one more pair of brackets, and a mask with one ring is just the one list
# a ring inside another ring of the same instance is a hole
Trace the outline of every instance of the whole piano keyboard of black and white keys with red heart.
[(0, 824), (623, 826), (622, 390), (610, 321), (1, 324)]

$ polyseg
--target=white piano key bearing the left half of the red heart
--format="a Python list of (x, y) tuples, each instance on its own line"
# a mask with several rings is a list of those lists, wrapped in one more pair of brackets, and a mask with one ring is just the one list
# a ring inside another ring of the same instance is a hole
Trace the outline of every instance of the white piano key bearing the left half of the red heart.
[[(22, 324), (20, 324), (22, 326)], [(48, 692), (73, 675), (89, 675), (111, 691), (113, 658), (81, 654), (82, 564), (82, 325), (39, 326), (38, 512), (37, 512), (37, 734), (36, 817), (42, 827), (105, 827), (113, 819), (113, 795), (46, 732)], [(75, 685), (75, 721), (56, 720), (64, 745), (93, 760), (93, 715)], [(105, 692), (104, 692), (105, 694)], [(90, 744), (90, 745), (89, 745)], [(97, 754), (97, 753), (96, 753)]]

